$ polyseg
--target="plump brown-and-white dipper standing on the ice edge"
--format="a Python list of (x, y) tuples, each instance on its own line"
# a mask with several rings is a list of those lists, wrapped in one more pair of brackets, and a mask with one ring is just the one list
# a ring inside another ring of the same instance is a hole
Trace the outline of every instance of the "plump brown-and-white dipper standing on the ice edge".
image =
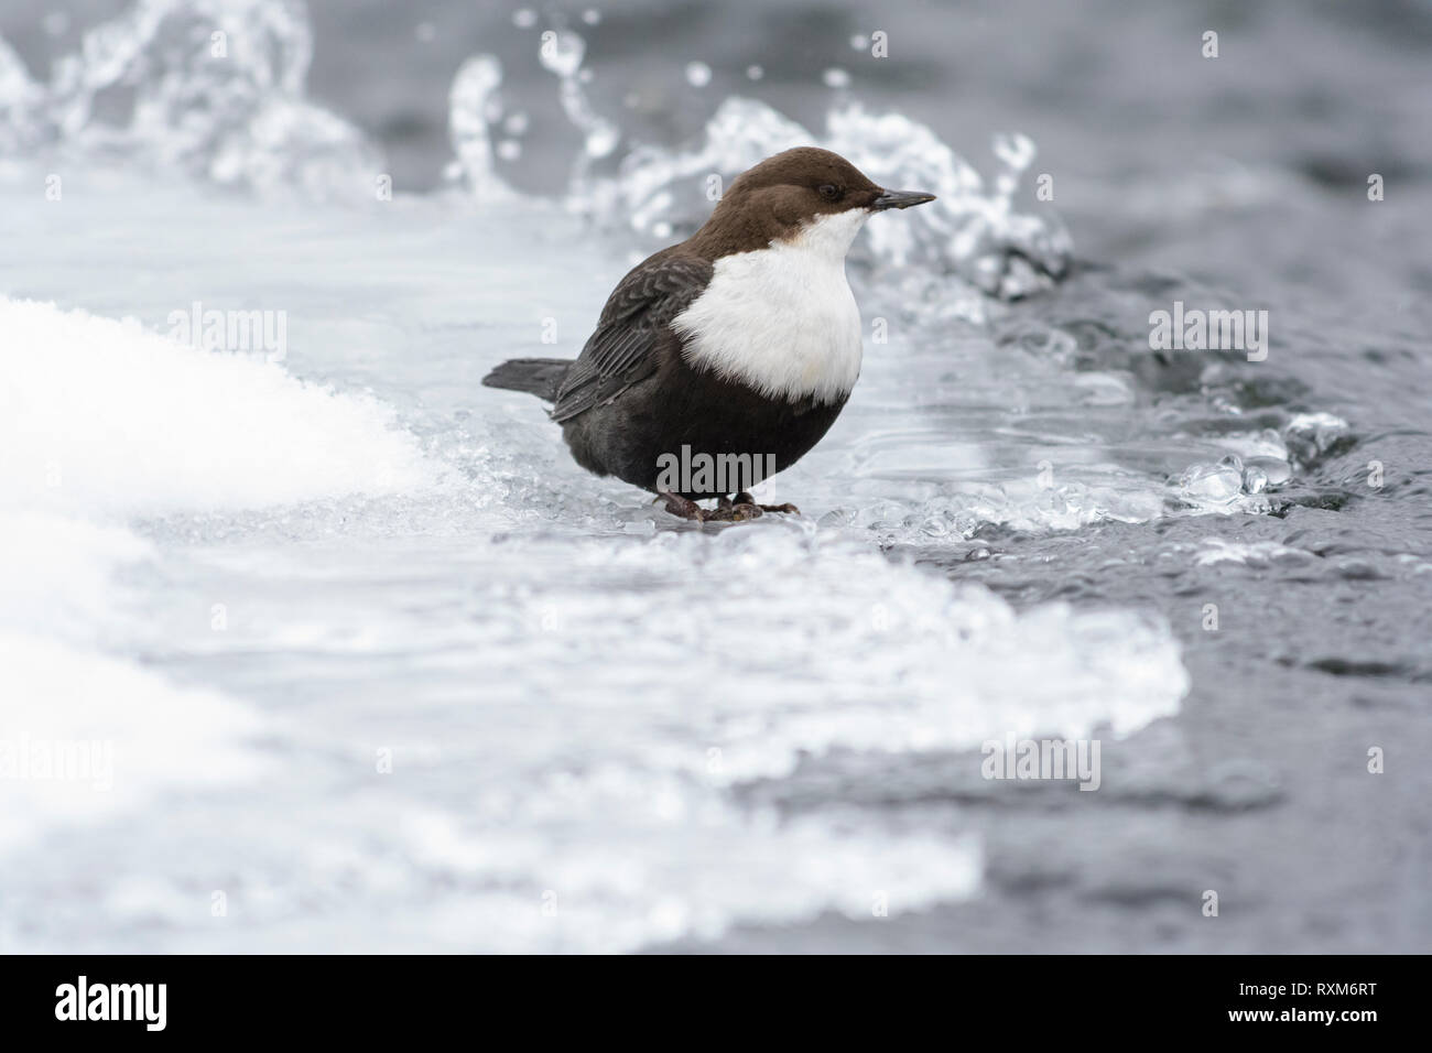
[[(553, 403), (577, 464), (676, 516), (796, 511), (745, 490), (821, 441), (861, 374), (845, 254), (871, 213), (934, 199), (876, 186), (831, 150), (778, 153), (617, 284), (576, 361), (514, 358), (483, 383)], [(696, 504), (706, 497), (719, 507)]]

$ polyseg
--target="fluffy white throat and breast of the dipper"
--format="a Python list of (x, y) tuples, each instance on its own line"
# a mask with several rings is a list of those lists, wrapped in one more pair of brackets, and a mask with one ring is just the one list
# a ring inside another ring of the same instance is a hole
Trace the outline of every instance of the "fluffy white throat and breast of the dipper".
[(672, 322), (686, 361), (772, 398), (841, 403), (861, 375), (861, 309), (845, 254), (869, 213), (822, 216), (790, 241), (716, 261)]

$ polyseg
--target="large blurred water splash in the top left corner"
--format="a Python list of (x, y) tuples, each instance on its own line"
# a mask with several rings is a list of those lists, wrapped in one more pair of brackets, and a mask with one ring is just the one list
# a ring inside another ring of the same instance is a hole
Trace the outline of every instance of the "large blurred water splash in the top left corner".
[(23, 80), (0, 42), (0, 136), (226, 186), (371, 195), (381, 153), (304, 97), (311, 59), (299, 0), (139, 0), (86, 33), (47, 86)]

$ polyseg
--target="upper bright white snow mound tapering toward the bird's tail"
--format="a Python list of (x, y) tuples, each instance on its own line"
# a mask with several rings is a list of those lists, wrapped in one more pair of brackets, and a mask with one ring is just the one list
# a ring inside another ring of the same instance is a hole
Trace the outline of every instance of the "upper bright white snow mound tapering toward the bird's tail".
[(53, 304), (0, 298), (0, 506), (239, 509), (431, 481), (372, 397)]

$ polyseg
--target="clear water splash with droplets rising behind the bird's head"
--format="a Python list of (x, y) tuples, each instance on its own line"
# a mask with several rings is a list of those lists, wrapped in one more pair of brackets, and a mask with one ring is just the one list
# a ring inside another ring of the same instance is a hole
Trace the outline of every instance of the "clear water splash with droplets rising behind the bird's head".
[[(543, 34), (540, 54), (543, 66), (560, 80), (567, 119), (584, 139), (570, 179), (569, 206), (599, 226), (636, 234), (649, 249), (695, 231), (710, 211), (713, 191), (752, 165), (792, 146), (816, 145), (848, 158), (884, 186), (937, 195), (935, 202), (902, 216), (899, 223), (872, 223), (856, 259), (955, 274), (1005, 299), (1048, 287), (1068, 266), (1073, 244), (1063, 223), (1012, 208), (1035, 153), (1025, 136), (997, 138), (995, 156), (1004, 169), (987, 186), (929, 128), (898, 113), (869, 113), (843, 90), (826, 116), (823, 135), (760, 100), (732, 96), (712, 115), (699, 145), (634, 145), (616, 175), (594, 178), (594, 162), (609, 158), (621, 136), (616, 125), (596, 113), (583, 89), (586, 44), (576, 33), (550, 30)], [(490, 106), (498, 86), (493, 80), (495, 60), (478, 56), (470, 66), (474, 63), (484, 72), (484, 90), (464, 90), (461, 96), (454, 90), (454, 128), (495, 123), (500, 113)], [(458, 74), (464, 85), (473, 77), (468, 67)], [(703, 63), (687, 67), (693, 86), (705, 87), (709, 79), (710, 69)], [(464, 139), (458, 156), (461, 175), (475, 193), (497, 181), (485, 132), (474, 130)]]

